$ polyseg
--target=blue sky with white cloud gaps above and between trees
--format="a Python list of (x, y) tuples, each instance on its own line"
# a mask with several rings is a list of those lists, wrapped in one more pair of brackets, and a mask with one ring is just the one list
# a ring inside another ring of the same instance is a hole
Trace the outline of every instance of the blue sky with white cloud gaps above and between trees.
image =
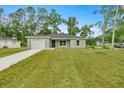
[[(0, 5), (3, 8), (5, 14), (15, 12), (19, 8), (26, 8), (29, 5)], [(69, 16), (76, 17), (78, 21), (78, 26), (81, 27), (85, 24), (95, 24), (97, 21), (103, 20), (102, 15), (93, 14), (93, 11), (101, 9), (99, 5), (32, 5), (34, 8), (46, 8), (48, 11), (55, 9), (56, 12), (62, 15), (62, 18), (67, 19)], [(62, 24), (60, 25), (62, 32), (67, 33), (67, 27)], [(92, 29), (94, 31), (94, 36), (98, 36), (101, 32), (97, 27)]]

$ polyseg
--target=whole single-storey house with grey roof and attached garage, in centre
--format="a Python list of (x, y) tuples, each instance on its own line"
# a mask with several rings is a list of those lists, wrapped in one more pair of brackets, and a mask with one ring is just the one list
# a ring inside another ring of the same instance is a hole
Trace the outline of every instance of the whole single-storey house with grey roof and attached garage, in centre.
[(27, 36), (27, 45), (31, 49), (47, 48), (85, 48), (86, 40), (79, 36), (68, 34), (52, 34), (41, 36)]

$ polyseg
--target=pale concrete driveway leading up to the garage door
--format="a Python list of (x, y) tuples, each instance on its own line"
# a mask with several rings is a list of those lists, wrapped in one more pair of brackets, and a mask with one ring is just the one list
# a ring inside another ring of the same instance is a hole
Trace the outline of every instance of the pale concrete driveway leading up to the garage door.
[(14, 65), (36, 53), (42, 49), (31, 49), (23, 52), (19, 52), (7, 57), (0, 58), (0, 71), (9, 68), (11, 65)]

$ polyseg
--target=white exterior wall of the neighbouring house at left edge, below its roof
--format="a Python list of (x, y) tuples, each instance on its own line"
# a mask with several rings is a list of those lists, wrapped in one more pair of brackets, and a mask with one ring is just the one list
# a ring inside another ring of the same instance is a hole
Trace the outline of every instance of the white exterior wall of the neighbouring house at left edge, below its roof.
[(15, 41), (15, 40), (0, 40), (0, 48), (3, 47), (7, 48), (20, 48), (20, 41)]

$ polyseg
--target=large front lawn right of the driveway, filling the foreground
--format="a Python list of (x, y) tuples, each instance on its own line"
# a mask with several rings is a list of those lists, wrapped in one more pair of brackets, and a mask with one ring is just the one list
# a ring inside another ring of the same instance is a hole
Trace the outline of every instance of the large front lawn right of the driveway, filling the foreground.
[(42, 51), (0, 72), (0, 87), (124, 87), (124, 51)]

